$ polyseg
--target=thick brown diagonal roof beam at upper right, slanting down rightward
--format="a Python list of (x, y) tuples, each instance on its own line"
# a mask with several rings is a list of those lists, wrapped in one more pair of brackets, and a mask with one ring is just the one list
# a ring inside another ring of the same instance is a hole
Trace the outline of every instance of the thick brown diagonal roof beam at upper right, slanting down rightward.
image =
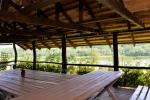
[(129, 12), (119, 0), (97, 0), (97, 1), (109, 7), (117, 14), (130, 21), (131, 23), (137, 25), (139, 28), (144, 28), (144, 24), (136, 16), (134, 16), (131, 12)]

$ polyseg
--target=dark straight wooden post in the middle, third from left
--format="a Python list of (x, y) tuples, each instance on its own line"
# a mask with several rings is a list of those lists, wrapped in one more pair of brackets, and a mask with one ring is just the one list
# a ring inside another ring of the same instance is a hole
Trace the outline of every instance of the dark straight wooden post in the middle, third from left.
[(62, 73), (67, 73), (66, 35), (62, 34)]

